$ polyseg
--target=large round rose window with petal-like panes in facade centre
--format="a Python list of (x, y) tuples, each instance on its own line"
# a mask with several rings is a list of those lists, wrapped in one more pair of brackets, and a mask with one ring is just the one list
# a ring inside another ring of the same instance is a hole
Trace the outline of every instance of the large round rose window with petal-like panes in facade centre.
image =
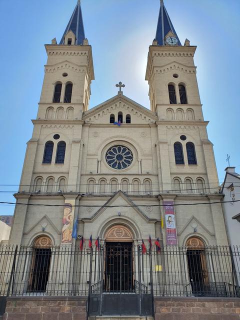
[(131, 150), (124, 145), (114, 145), (106, 151), (106, 162), (113, 169), (127, 168), (132, 162)]

